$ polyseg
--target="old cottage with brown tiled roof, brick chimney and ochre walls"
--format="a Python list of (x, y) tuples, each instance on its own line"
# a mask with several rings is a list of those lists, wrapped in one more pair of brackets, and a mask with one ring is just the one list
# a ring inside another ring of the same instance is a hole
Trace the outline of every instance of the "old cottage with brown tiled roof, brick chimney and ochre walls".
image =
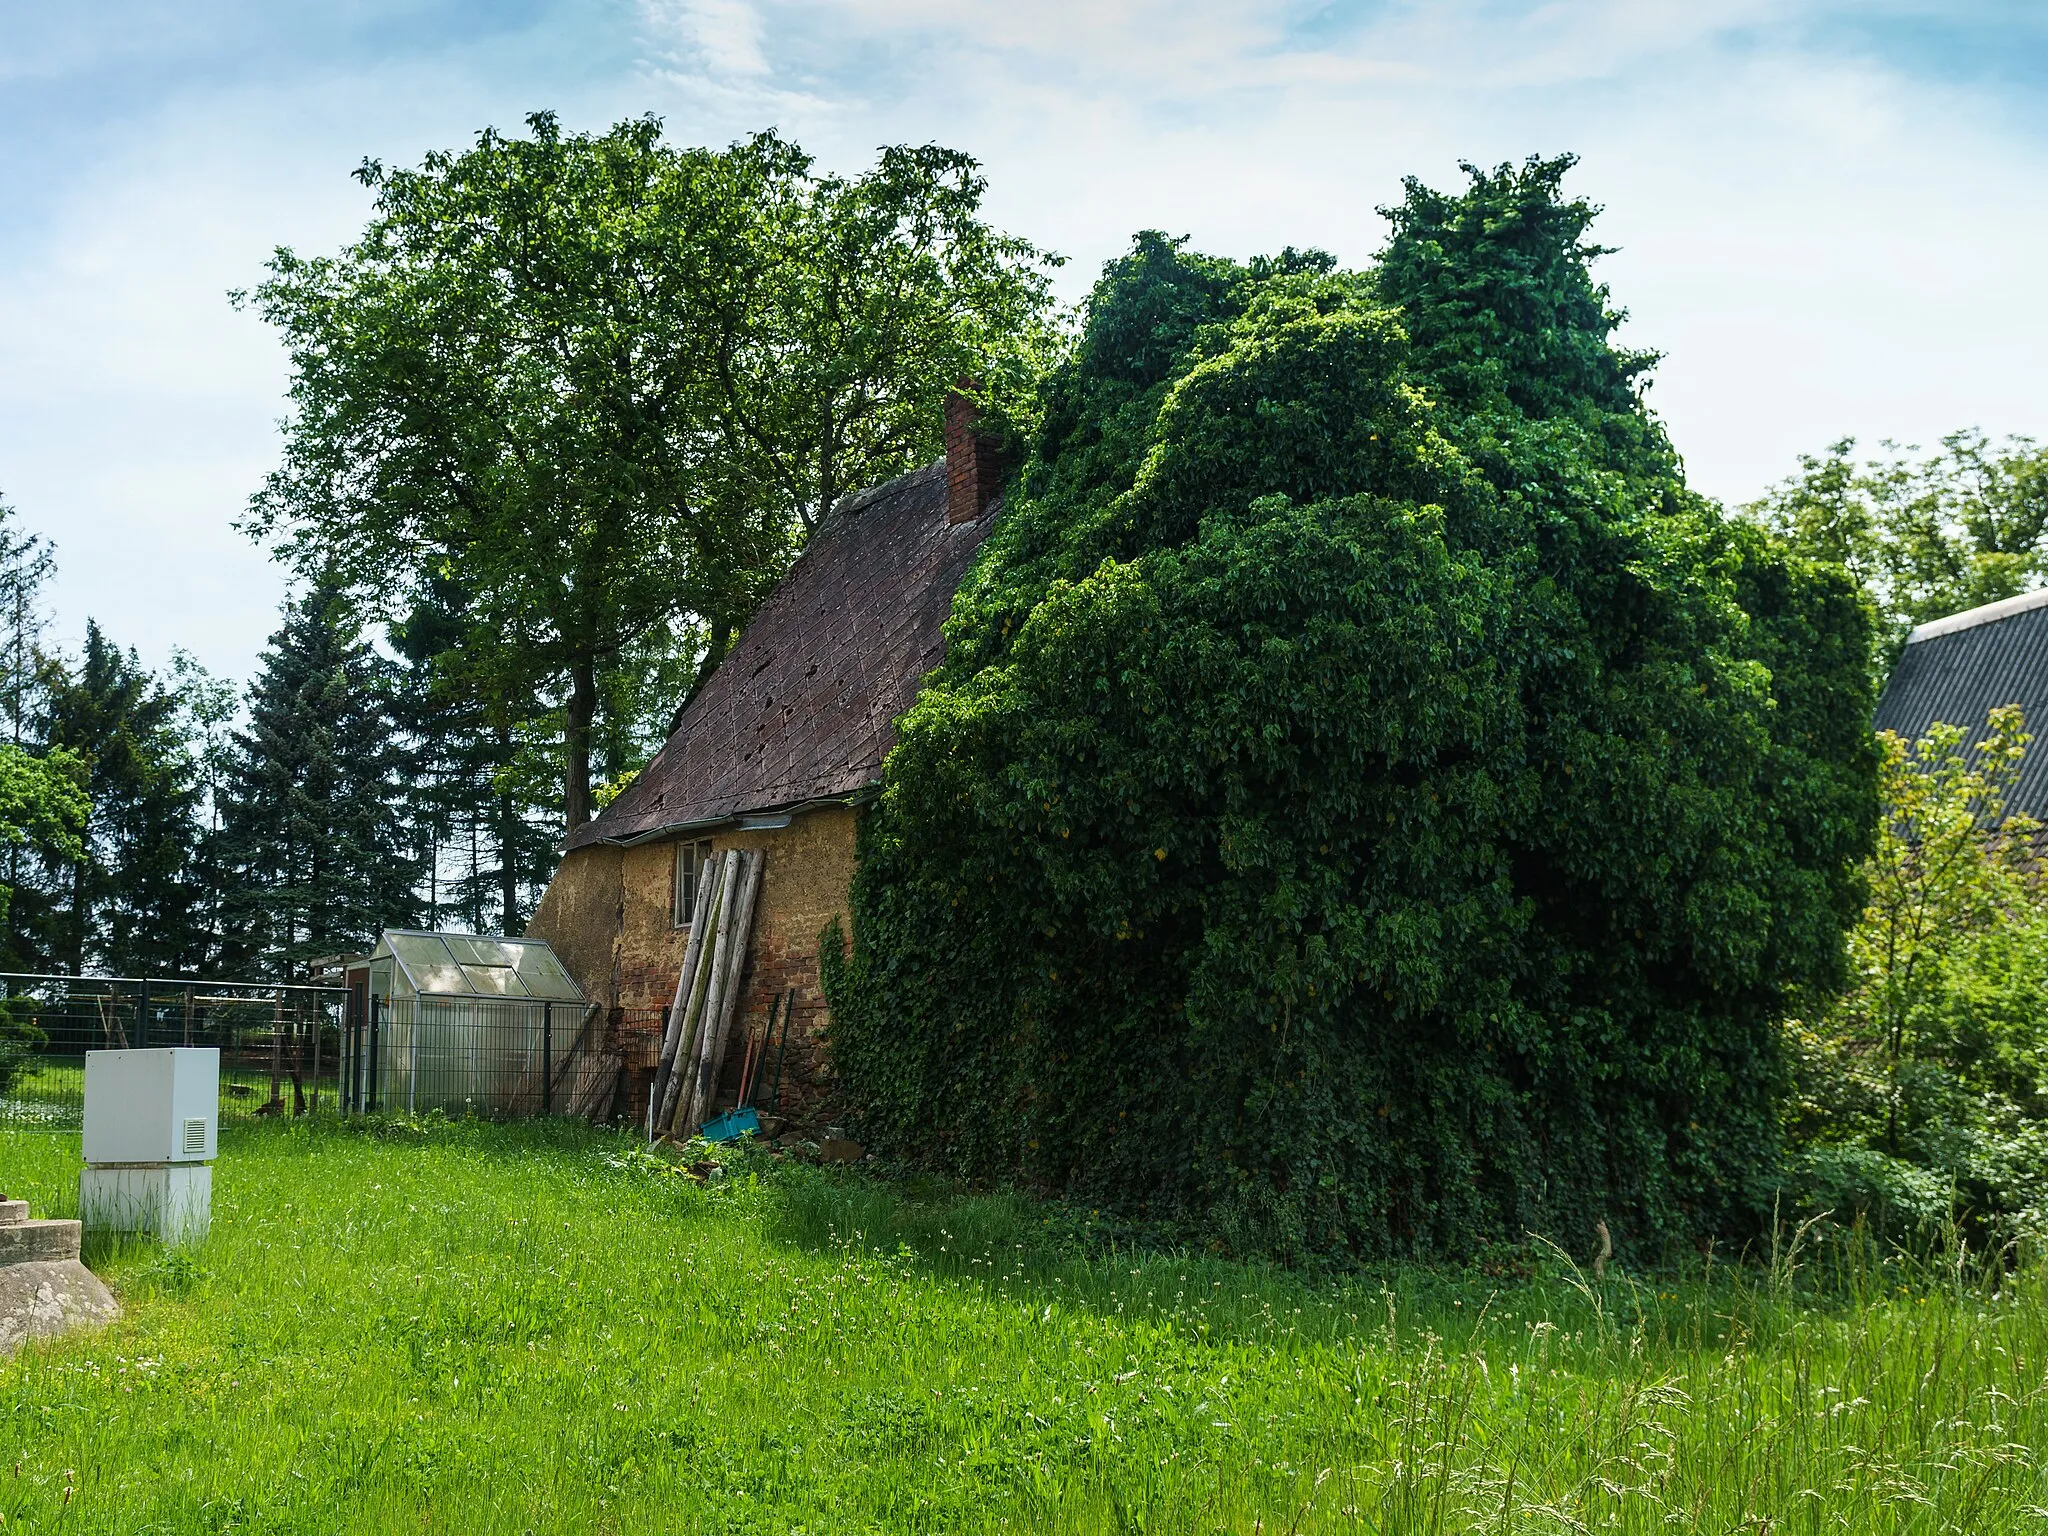
[(791, 995), (782, 1108), (801, 1122), (823, 1096), (819, 934), (846, 913), (860, 807), (895, 719), (940, 659), (997, 483), (993, 444), (954, 397), (946, 459), (840, 502), (653, 762), (569, 834), (526, 932), (606, 1010), (606, 1049), (625, 1067), (614, 1112), (629, 1122), (647, 1108), (698, 877), (729, 848), (758, 850), (764, 866), (723, 1100), (737, 1090), (737, 1042)]

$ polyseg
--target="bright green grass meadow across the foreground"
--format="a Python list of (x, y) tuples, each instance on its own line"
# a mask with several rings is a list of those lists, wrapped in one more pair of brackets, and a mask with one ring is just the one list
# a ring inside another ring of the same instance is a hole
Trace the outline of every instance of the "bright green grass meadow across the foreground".
[[(76, 1204), (76, 1137), (0, 1186)], [(2015, 1532), (2048, 1276), (1300, 1280), (575, 1126), (231, 1124), (199, 1249), (0, 1362), (12, 1532)]]

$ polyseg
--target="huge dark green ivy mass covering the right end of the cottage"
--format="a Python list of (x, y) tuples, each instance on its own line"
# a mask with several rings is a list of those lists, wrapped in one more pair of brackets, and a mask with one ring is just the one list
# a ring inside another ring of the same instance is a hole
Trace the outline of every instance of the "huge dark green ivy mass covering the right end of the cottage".
[(1110, 264), (827, 944), (866, 1139), (1286, 1257), (1767, 1212), (1870, 623), (1686, 492), (1561, 172)]

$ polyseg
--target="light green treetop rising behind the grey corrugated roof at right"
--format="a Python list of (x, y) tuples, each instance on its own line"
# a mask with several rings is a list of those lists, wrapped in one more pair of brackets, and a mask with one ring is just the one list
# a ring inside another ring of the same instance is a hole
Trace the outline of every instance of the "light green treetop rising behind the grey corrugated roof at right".
[(1913, 625), (2048, 582), (2048, 449), (2017, 436), (1995, 449), (1974, 430), (1948, 434), (1929, 457), (1884, 449), (1858, 463), (1855, 438), (1843, 438), (1800, 455), (1800, 473), (1745, 512), (1843, 565), (1882, 614), (1892, 653)]

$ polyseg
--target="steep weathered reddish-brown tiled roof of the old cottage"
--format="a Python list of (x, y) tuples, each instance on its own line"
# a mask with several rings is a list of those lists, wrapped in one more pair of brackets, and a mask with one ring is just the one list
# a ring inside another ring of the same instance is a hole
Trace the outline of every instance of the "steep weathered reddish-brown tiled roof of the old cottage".
[(952, 590), (989, 530), (946, 522), (944, 463), (850, 496), (811, 535), (668, 745), (569, 848), (854, 795), (944, 653)]

